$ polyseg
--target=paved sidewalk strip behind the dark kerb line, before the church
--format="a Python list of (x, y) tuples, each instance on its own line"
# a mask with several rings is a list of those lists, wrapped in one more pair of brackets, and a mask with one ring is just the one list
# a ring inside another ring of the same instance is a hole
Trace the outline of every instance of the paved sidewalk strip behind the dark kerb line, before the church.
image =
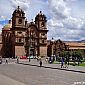
[[(71, 66), (71, 65), (69, 65), (68, 68), (61, 68), (61, 64), (49, 64), (49, 63), (46, 63), (45, 60), (43, 60), (42, 62), (43, 62), (42, 67), (44, 67), (44, 68), (51, 68), (51, 69), (59, 69), (59, 70), (65, 70), (65, 71), (85, 73), (85, 67), (83, 67), (83, 66)], [(31, 59), (30, 62), (29, 62), (28, 59), (20, 59), (19, 64), (39, 67), (39, 62), (37, 62), (36, 59)]]

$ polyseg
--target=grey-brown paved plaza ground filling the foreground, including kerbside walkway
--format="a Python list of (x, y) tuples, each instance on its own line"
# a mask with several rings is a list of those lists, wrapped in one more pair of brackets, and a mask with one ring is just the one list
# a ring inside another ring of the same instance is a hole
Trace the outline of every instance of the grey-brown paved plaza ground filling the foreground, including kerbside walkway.
[[(85, 73), (68, 71), (84, 72), (85, 67), (69, 66), (68, 70), (61, 70), (57, 69), (60, 68), (59, 64), (47, 64), (44, 61), (43, 67), (39, 67), (36, 60), (20, 60), (20, 63), (12, 60), (9, 64), (0, 65), (0, 85), (85, 85)], [(48, 66), (55, 69), (45, 68)]]

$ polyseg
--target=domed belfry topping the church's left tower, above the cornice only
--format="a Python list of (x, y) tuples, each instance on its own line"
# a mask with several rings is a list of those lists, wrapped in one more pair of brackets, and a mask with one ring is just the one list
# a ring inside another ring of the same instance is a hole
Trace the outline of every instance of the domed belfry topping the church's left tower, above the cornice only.
[(12, 15), (12, 26), (13, 27), (25, 27), (25, 13), (18, 6), (17, 9), (13, 12)]

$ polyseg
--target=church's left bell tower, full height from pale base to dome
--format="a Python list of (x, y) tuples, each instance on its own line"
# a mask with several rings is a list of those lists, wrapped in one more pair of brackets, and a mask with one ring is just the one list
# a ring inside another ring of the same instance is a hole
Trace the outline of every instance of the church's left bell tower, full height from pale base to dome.
[[(12, 34), (14, 42), (15, 55), (18, 56), (20, 52), (22, 56), (25, 54), (24, 43), (25, 43), (25, 32), (27, 26), (27, 20), (25, 19), (24, 11), (18, 6), (12, 14)], [(21, 49), (20, 49), (21, 48)]]

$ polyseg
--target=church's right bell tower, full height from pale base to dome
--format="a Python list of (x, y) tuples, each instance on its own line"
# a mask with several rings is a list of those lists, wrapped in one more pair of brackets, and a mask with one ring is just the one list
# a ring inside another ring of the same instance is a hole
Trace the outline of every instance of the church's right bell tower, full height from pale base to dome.
[(35, 24), (39, 32), (39, 55), (47, 56), (47, 20), (42, 11), (40, 11), (40, 13), (38, 13), (38, 15), (35, 17)]

